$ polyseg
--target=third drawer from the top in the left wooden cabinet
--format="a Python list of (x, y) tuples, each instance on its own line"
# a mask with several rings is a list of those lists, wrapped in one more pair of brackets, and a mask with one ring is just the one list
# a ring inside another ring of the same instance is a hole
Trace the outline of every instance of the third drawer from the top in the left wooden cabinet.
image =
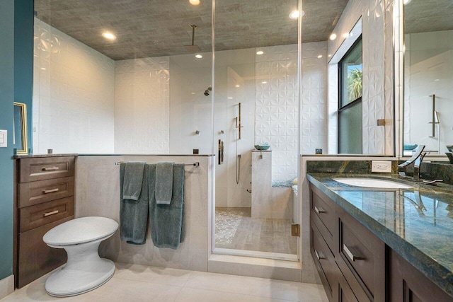
[(74, 215), (74, 196), (19, 209), (19, 232)]

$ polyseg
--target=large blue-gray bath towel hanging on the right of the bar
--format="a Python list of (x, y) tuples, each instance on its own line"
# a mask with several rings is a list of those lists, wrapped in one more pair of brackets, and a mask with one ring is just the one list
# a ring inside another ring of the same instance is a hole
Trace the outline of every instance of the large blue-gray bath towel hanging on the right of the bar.
[(156, 164), (147, 165), (149, 175), (149, 223), (158, 248), (178, 249), (184, 240), (184, 164), (173, 165), (173, 194), (170, 204), (156, 202)]

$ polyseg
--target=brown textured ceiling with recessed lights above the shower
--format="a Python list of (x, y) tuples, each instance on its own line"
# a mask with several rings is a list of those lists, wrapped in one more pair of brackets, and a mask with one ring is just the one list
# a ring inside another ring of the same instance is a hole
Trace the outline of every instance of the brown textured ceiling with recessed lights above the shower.
[[(415, 1), (415, 0), (413, 0)], [(45, 23), (102, 52), (132, 59), (186, 54), (197, 25), (195, 45), (211, 50), (212, 3), (200, 0), (35, 0), (35, 11)], [(303, 42), (325, 41), (348, 0), (303, 0)], [(289, 12), (297, 0), (217, 0), (215, 50), (297, 43), (297, 20)], [(110, 30), (117, 40), (106, 41)]]

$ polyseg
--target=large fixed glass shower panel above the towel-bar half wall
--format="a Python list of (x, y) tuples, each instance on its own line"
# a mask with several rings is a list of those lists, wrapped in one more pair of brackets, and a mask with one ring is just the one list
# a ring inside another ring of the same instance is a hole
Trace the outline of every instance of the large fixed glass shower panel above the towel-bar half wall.
[(35, 16), (35, 153), (212, 152), (212, 1), (35, 0)]

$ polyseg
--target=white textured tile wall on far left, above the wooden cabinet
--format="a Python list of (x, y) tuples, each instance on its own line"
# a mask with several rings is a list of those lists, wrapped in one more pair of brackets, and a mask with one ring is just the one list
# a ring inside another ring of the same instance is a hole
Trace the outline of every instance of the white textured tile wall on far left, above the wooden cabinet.
[(115, 62), (35, 18), (33, 153), (113, 153)]

